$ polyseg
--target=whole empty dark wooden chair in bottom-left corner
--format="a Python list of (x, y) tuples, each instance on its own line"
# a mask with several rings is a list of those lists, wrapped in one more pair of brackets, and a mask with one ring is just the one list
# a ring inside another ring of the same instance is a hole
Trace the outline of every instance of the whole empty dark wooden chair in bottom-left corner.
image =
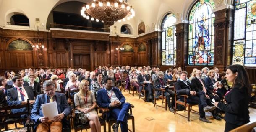
[[(29, 102), (29, 99), (27, 100)], [(9, 113), (12, 109), (21, 109), (21, 108), (27, 108), (26, 112), (18, 112), (18, 113)], [(19, 105), (13, 105), (13, 106), (5, 106), (0, 108), (0, 111), (2, 114), (0, 115), (0, 131), (2, 129), (2, 126), (5, 126), (5, 131), (8, 130), (8, 124), (13, 123), (20, 123), (20, 122), (26, 122), (25, 126), (27, 129), (27, 132), (30, 132), (31, 129), (33, 129), (34, 122), (28, 118), (20, 118), (21, 115), (26, 114), (30, 115), (30, 104), (19, 104)], [(15, 128), (15, 129), (21, 129), (21, 128)]]

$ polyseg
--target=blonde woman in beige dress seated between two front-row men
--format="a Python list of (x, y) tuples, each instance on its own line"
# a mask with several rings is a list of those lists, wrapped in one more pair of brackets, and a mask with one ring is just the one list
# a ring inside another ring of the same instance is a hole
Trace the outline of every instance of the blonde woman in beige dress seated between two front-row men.
[(89, 81), (82, 80), (79, 85), (79, 92), (74, 95), (76, 109), (84, 112), (84, 117), (89, 121), (91, 132), (101, 132), (97, 107), (94, 94), (89, 91)]

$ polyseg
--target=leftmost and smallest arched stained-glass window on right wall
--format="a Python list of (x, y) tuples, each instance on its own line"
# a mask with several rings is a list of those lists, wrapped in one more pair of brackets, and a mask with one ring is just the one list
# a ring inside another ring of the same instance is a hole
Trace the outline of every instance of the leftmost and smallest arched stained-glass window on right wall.
[(162, 65), (176, 64), (175, 22), (173, 13), (167, 14), (162, 22)]

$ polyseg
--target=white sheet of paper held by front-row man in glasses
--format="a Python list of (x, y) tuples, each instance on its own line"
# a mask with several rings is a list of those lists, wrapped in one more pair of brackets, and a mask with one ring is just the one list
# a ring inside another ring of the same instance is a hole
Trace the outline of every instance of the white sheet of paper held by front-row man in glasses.
[(42, 112), (44, 117), (48, 117), (50, 120), (53, 120), (54, 117), (58, 115), (57, 102), (42, 104)]

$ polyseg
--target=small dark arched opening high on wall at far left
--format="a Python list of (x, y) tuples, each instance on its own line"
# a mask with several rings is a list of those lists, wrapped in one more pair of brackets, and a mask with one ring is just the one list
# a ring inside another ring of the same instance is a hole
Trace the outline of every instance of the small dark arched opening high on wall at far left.
[(10, 17), (10, 25), (29, 26), (29, 18), (21, 14), (13, 15)]

